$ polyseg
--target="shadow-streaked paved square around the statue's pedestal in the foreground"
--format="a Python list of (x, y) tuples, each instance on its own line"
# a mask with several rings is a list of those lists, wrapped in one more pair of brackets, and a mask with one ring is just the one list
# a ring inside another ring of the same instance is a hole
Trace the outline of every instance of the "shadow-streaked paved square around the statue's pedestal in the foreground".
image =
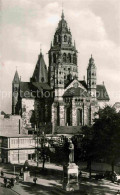
[[(13, 165), (1, 165), (4, 171), (4, 176), (6, 177), (13, 177), (14, 176), (14, 169)], [(0, 168), (1, 168), (0, 167)], [(33, 183), (34, 175), (31, 174), (31, 177), (28, 178), (26, 182), (20, 178), (19, 184), (15, 184), (12, 189), (7, 189), (3, 187), (3, 178), (0, 177), (0, 195), (62, 195), (62, 194), (70, 194), (70, 195), (115, 195), (118, 190), (120, 190), (120, 186), (118, 184), (114, 184), (109, 180), (95, 180), (94, 178), (89, 179), (88, 173), (83, 171), (82, 177), (79, 179), (80, 190), (78, 192), (69, 192), (65, 193), (62, 190), (62, 167), (55, 166), (53, 164), (46, 165), (47, 169), (53, 170), (58, 168), (57, 174), (53, 172), (53, 174), (48, 174), (50, 172), (45, 172), (39, 174), (37, 172), (37, 183)], [(61, 172), (61, 174), (59, 174)], [(16, 172), (18, 173), (18, 172)]]

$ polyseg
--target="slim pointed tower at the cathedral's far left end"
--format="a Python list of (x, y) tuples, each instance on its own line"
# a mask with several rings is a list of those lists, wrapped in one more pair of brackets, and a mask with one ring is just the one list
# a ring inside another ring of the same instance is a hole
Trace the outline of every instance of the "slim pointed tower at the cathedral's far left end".
[(20, 89), (20, 79), (18, 72), (16, 70), (14, 79), (12, 82), (12, 114), (19, 115), (19, 89)]

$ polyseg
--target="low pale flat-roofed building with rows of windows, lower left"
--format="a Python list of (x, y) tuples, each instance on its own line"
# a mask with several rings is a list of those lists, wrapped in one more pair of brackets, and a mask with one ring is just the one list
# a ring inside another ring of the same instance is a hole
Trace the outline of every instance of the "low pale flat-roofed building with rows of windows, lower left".
[(0, 136), (0, 162), (24, 163), (35, 159), (36, 140), (28, 135)]

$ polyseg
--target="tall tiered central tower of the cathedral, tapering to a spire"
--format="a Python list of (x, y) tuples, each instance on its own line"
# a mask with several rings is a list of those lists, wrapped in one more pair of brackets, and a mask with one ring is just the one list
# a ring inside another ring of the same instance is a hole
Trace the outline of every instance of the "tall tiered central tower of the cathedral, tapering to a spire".
[[(61, 60), (60, 63), (59, 60)], [(59, 74), (56, 75), (56, 72)], [(69, 82), (69, 78), (78, 77), (77, 50), (75, 44), (72, 44), (71, 31), (67, 26), (63, 11), (49, 50), (49, 84), (52, 88), (56, 88), (56, 85), (58, 87), (61, 76), (63, 88)]]

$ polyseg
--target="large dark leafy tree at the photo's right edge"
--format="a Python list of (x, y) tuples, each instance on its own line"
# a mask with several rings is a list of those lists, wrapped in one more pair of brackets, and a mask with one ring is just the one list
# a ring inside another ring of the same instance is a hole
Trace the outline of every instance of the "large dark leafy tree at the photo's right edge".
[(114, 165), (120, 158), (120, 113), (106, 106), (96, 114), (99, 118), (94, 120), (92, 127), (95, 156), (109, 162), (114, 172)]

